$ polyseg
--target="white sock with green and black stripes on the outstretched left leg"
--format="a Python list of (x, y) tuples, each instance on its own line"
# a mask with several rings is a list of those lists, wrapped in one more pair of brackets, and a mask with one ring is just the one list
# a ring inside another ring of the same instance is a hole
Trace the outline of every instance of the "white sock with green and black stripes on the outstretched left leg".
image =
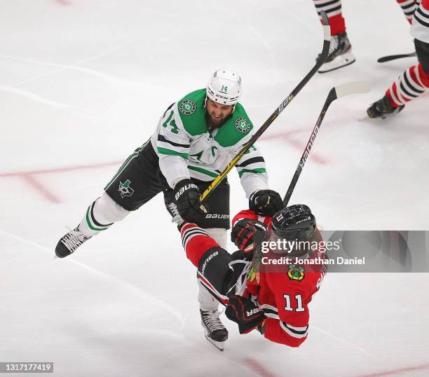
[(129, 213), (130, 211), (124, 210), (107, 193), (103, 193), (101, 198), (88, 207), (85, 217), (79, 224), (79, 229), (84, 235), (90, 237), (100, 231), (105, 231), (114, 222), (125, 219)]

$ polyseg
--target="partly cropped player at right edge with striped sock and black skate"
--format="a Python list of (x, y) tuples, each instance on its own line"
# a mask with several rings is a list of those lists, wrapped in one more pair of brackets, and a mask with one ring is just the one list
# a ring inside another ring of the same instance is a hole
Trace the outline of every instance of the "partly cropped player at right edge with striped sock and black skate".
[(369, 118), (393, 116), (429, 88), (429, 0), (421, 0), (414, 11), (411, 35), (415, 38), (417, 64), (404, 71), (386, 90), (384, 97), (367, 109)]

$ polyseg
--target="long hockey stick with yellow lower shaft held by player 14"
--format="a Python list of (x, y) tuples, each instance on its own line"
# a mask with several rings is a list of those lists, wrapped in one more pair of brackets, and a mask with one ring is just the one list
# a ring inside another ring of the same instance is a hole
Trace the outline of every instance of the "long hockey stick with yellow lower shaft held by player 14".
[(221, 172), (215, 179), (212, 181), (212, 184), (208, 186), (205, 191), (203, 192), (203, 195), (200, 196), (200, 202), (207, 199), (207, 197), (213, 192), (214, 188), (217, 188), (219, 184), (221, 183), (222, 179), (226, 177), (226, 175), (231, 172), (232, 168), (238, 163), (238, 160), (244, 156), (244, 154), (247, 152), (247, 150), (254, 144), (254, 142), (261, 137), (261, 135), (266, 131), (266, 129), (273, 123), (275, 118), (279, 116), (279, 114), (287, 107), (290, 102), (297, 96), (297, 94), (301, 91), (302, 88), (310, 81), (310, 79), (315, 75), (315, 73), (318, 71), (320, 66), (325, 63), (328, 53), (329, 53), (329, 45), (331, 41), (331, 29), (329, 27), (329, 21), (327, 18), (327, 15), (325, 12), (320, 13), (322, 17), (322, 25), (323, 25), (323, 49), (322, 53), (320, 54), (320, 58), (316, 62), (315, 66), (311, 69), (311, 71), (308, 72), (308, 74), (302, 79), (302, 81), (297, 85), (294, 90), (286, 97), (284, 101), (280, 104), (280, 106), (275, 109), (273, 114), (265, 121), (263, 125), (261, 125), (261, 128), (257, 130), (257, 132), (254, 133), (252, 138), (246, 143), (243, 144), (243, 147), (240, 149), (240, 151), (236, 154), (236, 156), (229, 162), (228, 165), (226, 165), (223, 172)]

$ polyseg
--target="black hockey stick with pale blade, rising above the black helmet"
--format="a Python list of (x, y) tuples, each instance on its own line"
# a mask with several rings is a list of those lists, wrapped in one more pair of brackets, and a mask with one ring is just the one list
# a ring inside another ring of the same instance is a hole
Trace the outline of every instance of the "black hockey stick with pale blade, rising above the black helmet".
[(304, 168), (308, 155), (310, 154), (311, 148), (313, 147), (315, 137), (316, 135), (318, 135), (320, 125), (322, 124), (323, 118), (325, 118), (325, 114), (329, 105), (332, 104), (332, 102), (334, 102), (337, 98), (341, 98), (346, 95), (366, 92), (369, 92), (369, 83), (367, 81), (353, 81), (351, 83), (334, 86), (334, 88), (329, 90), (329, 94), (327, 96), (325, 104), (322, 107), (322, 111), (320, 111), (318, 121), (313, 128), (313, 132), (311, 132), (310, 139), (308, 139), (306, 148), (304, 149), (304, 153), (302, 153), (301, 160), (299, 160), (297, 170), (295, 170), (294, 177), (292, 177), (292, 181), (290, 182), (289, 188), (287, 188), (285, 198), (283, 199), (283, 205), (285, 207), (287, 207), (287, 203), (289, 203), (290, 197), (294, 192), (294, 188), (297, 184), (299, 176), (301, 175), (302, 169)]

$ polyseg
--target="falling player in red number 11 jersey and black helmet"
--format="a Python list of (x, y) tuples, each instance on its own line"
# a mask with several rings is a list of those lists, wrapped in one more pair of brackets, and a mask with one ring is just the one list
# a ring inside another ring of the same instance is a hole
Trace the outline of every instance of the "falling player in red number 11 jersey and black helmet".
[[(292, 205), (273, 217), (261, 217), (255, 210), (237, 214), (231, 240), (240, 250), (233, 254), (196, 224), (184, 223), (181, 234), (201, 283), (226, 305), (226, 316), (238, 324), (240, 334), (257, 329), (268, 340), (290, 347), (306, 340), (308, 303), (326, 273), (323, 263), (297, 263), (298, 258), (325, 258), (308, 246), (318, 245), (322, 238), (306, 205)], [(280, 247), (284, 240), (306, 246)], [(212, 329), (216, 331), (214, 324)], [(207, 340), (223, 350), (224, 342), (214, 341), (212, 329), (205, 327)]]

